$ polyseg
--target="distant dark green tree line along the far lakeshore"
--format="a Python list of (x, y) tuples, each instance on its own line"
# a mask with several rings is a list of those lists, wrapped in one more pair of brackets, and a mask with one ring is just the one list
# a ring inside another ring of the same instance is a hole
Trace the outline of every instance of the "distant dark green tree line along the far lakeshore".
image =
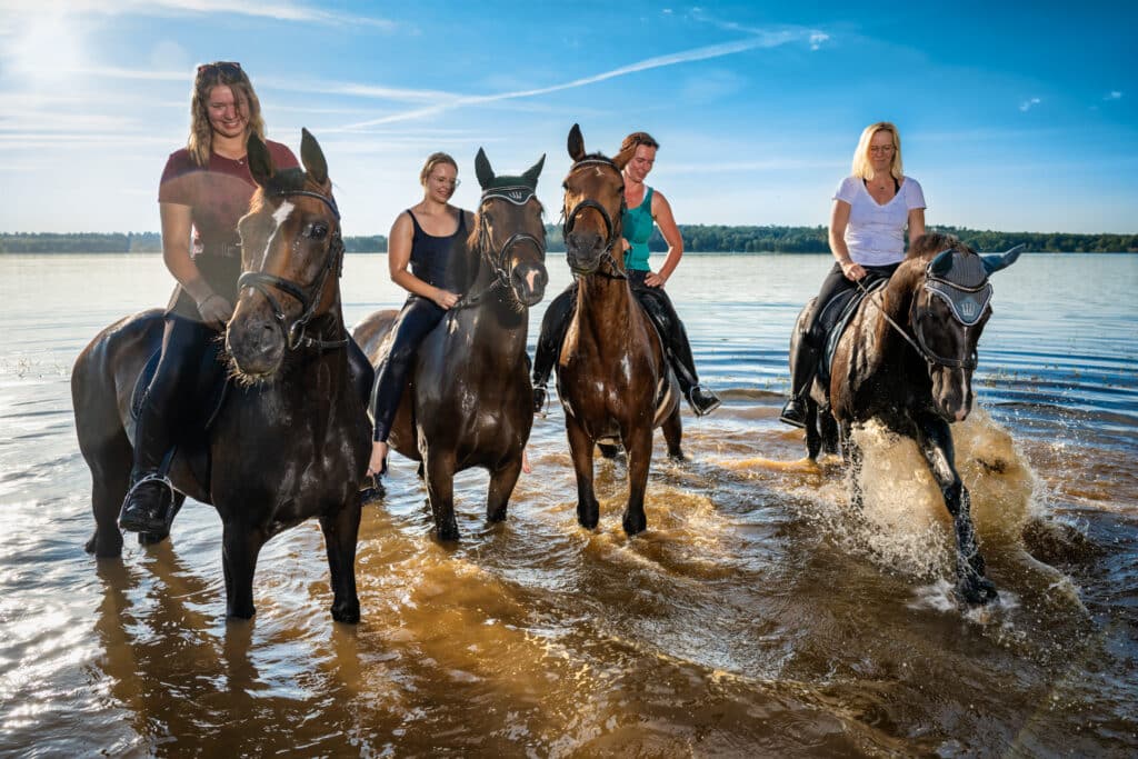
[[(963, 226), (935, 226), (956, 234), (976, 250), (1007, 250), (1021, 242), (1038, 253), (1138, 253), (1138, 234), (1069, 234), (1064, 232), (992, 232)], [(684, 249), (694, 253), (828, 253), (825, 226), (728, 226), (683, 224)], [(546, 247), (563, 253), (561, 226), (545, 225)], [(649, 249), (663, 251), (668, 245), (660, 230), (649, 240)], [(387, 253), (382, 234), (345, 237), (348, 253)], [(160, 253), (157, 232), (0, 233), (3, 253)]]

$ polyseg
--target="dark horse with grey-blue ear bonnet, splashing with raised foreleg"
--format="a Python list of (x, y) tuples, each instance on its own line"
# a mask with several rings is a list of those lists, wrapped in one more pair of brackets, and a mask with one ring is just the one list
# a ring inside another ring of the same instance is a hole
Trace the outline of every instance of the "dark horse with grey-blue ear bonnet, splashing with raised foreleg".
[[(997, 593), (984, 577), (971, 497), (956, 470), (950, 424), (963, 421), (972, 409), (976, 344), (991, 316), (988, 278), (1019, 255), (1015, 248), (1003, 256), (980, 256), (955, 237), (935, 232), (914, 240), (884, 288), (858, 306), (838, 340), (828, 385), (815, 380), (808, 399), (810, 419), (828, 405), (838, 421), (842, 454), (853, 471), (852, 502), (858, 508), (863, 453), (853, 428), (873, 419), (916, 442), (953, 517), (957, 592), (971, 604), (988, 603)], [(806, 310), (797, 332), (805, 316)], [(807, 426), (811, 457), (820, 445), (813, 428)]]

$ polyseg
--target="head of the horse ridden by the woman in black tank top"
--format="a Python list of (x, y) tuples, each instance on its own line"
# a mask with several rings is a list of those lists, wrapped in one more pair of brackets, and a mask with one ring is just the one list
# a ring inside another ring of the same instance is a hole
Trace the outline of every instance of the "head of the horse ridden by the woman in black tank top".
[(485, 150), (479, 148), (475, 157), (483, 197), (471, 241), (483, 264), (493, 270), (495, 281), (508, 286), (514, 303), (527, 308), (541, 302), (550, 281), (545, 271), (544, 209), (535, 195), (544, 165), (542, 156), (520, 176), (496, 176)]

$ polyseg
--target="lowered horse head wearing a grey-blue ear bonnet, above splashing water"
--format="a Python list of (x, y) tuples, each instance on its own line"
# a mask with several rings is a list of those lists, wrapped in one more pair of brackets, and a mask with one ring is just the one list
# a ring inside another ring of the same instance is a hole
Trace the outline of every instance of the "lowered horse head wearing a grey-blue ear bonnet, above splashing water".
[(956, 237), (937, 232), (913, 242), (909, 261), (920, 273), (909, 327), (929, 369), (934, 410), (948, 422), (964, 421), (972, 409), (976, 345), (992, 314), (989, 274), (1014, 263), (1022, 247), (980, 256)]

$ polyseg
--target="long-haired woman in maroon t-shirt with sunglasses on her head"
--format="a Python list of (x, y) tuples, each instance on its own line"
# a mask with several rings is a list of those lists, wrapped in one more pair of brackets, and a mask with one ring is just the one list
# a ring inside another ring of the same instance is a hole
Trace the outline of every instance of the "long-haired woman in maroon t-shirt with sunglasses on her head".
[[(261, 102), (240, 64), (198, 66), (190, 101), (187, 146), (170, 155), (158, 188), (163, 261), (178, 280), (166, 310), (162, 357), (146, 393), (134, 432), (131, 488), (118, 523), (163, 536), (173, 520), (166, 479), (181, 410), (196, 390), (208, 343), (233, 314), (241, 274), (237, 222), (257, 185), (246, 160), (250, 133), (264, 140)], [(279, 142), (265, 141), (278, 168), (297, 166)], [(181, 397), (181, 402), (175, 398)]]

